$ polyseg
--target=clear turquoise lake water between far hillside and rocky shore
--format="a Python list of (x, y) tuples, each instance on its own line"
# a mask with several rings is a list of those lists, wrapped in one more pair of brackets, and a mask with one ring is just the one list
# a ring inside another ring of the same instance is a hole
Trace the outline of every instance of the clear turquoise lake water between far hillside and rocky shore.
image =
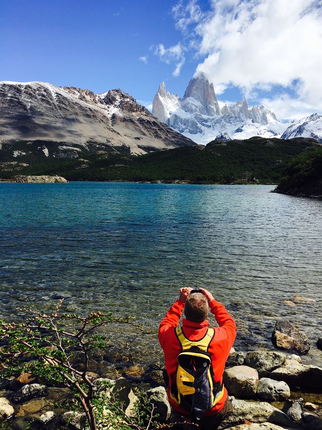
[(272, 349), (286, 317), (312, 342), (306, 361), (321, 363), (322, 202), (273, 188), (0, 183), (0, 316), (60, 297), (64, 310), (136, 316), (149, 335), (111, 336), (143, 360), (142, 345), (159, 356), (179, 288), (200, 286), (235, 319), (237, 350)]

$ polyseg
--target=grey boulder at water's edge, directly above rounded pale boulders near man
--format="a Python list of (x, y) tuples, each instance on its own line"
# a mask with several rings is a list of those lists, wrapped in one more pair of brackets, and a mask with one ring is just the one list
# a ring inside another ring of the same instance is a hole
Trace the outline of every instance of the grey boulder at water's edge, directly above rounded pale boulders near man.
[(250, 351), (246, 354), (245, 364), (254, 367), (259, 376), (267, 376), (285, 362), (285, 354), (276, 351)]

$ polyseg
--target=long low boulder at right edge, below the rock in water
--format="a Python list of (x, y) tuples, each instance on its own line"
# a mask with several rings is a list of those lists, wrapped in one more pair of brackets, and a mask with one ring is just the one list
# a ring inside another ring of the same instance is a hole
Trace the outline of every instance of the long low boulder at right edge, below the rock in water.
[(291, 364), (275, 369), (270, 378), (284, 381), (290, 387), (321, 388), (322, 368), (309, 364)]

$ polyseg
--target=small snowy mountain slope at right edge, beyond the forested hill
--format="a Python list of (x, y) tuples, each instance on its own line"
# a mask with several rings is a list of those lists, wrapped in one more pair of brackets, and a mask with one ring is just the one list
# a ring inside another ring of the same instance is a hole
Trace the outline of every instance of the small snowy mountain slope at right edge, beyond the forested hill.
[(295, 137), (310, 137), (322, 143), (322, 115), (313, 113), (289, 126), (282, 134), (281, 139)]

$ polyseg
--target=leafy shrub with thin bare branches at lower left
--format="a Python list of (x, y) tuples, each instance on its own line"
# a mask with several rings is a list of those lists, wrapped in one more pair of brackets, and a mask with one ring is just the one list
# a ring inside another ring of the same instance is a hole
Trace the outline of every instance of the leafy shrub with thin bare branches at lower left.
[(77, 395), (91, 430), (97, 430), (94, 409), (95, 386), (88, 376), (90, 353), (104, 348), (104, 337), (97, 330), (108, 324), (131, 324), (131, 318), (115, 318), (112, 313), (92, 313), (87, 317), (60, 314), (63, 299), (51, 315), (33, 310), (25, 312), (22, 322), (0, 320), (0, 365), (3, 375), (30, 372), (53, 385), (62, 384)]

